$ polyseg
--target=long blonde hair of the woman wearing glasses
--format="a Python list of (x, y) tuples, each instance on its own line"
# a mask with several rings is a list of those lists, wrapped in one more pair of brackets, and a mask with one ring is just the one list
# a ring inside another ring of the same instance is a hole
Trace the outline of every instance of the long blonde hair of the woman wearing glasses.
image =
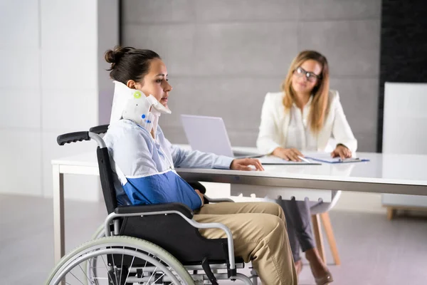
[(295, 90), (292, 88), (292, 76), (295, 69), (301, 66), (302, 63), (308, 60), (314, 60), (322, 66), (322, 73), (320, 78), (317, 79), (317, 84), (312, 90), (313, 100), (311, 103), (310, 114), (310, 128), (314, 133), (318, 133), (322, 127), (327, 114), (328, 94), (329, 94), (329, 66), (327, 59), (317, 51), (301, 51), (297, 57), (290, 63), (288, 75), (282, 83), (282, 91), (285, 93), (283, 97), (283, 105), (285, 110), (290, 110), (292, 103), (295, 100)]

